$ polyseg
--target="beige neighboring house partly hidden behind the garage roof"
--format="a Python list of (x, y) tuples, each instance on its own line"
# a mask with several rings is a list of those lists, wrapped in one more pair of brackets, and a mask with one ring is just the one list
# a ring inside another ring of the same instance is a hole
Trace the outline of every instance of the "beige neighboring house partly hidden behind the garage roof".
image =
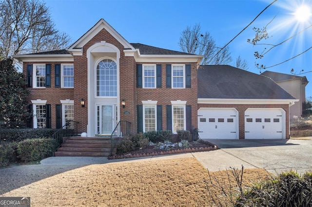
[(265, 71), (261, 75), (272, 78), (279, 86), (299, 100), (290, 107), (290, 119), (292, 120), (293, 116), (301, 117), (303, 103), (306, 101), (306, 86), (309, 83), (307, 77), (272, 71)]

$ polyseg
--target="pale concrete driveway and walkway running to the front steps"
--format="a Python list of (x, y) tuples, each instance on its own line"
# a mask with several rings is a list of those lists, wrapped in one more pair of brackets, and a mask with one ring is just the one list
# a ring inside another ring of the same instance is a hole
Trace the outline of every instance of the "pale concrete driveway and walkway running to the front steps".
[(312, 140), (215, 139), (209, 141), (221, 149), (210, 152), (112, 160), (107, 157), (48, 157), (41, 160), (40, 164), (91, 165), (195, 157), (209, 171), (225, 170), (230, 167), (241, 168), (242, 165), (244, 168), (264, 168), (277, 173), (291, 169), (298, 173), (312, 170)]

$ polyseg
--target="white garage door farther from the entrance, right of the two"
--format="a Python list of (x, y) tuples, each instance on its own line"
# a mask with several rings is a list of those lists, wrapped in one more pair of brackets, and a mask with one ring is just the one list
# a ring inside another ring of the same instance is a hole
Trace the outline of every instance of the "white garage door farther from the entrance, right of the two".
[(249, 108), (245, 111), (245, 139), (285, 138), (284, 110)]

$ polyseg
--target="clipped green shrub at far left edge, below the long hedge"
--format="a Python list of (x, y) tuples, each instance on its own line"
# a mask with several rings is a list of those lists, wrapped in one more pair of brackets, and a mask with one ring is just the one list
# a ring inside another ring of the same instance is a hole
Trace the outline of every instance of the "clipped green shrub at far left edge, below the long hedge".
[(16, 161), (16, 146), (17, 143), (0, 143), (0, 167), (4, 167), (10, 164), (10, 162)]

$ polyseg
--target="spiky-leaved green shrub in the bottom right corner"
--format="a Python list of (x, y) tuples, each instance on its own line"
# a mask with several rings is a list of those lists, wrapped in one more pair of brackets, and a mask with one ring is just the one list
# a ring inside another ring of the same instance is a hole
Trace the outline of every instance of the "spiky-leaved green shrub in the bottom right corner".
[(312, 203), (312, 173), (299, 176), (294, 171), (281, 173), (275, 178), (255, 183), (240, 195), (236, 207), (307, 207)]

